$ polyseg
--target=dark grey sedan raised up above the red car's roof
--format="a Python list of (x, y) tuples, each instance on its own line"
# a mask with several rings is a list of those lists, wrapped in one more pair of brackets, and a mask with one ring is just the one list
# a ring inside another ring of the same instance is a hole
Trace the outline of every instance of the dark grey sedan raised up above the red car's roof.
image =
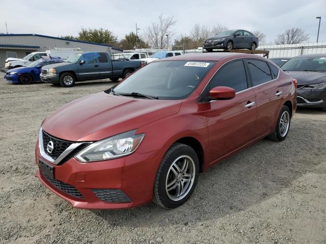
[(207, 37), (204, 41), (204, 49), (211, 52), (213, 49), (251, 49), (258, 47), (258, 38), (243, 29), (231, 29), (221, 32), (213, 37)]

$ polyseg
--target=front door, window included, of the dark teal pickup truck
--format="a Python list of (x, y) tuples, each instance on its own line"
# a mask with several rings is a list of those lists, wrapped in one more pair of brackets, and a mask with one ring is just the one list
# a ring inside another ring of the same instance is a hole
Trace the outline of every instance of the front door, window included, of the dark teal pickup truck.
[[(97, 63), (97, 53), (90, 52), (83, 54), (77, 63), (78, 79), (92, 79), (100, 77), (100, 70)], [(85, 60), (85, 64), (79, 64), (80, 60)]]

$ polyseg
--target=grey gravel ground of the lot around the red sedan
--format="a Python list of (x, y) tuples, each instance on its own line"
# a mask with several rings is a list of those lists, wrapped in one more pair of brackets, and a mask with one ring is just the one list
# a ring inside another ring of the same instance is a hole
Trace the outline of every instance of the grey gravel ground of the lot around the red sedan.
[(72, 208), (34, 177), (41, 121), (108, 80), (12, 85), (0, 78), (0, 243), (326, 243), (326, 113), (299, 109), (266, 139), (199, 177), (183, 206)]

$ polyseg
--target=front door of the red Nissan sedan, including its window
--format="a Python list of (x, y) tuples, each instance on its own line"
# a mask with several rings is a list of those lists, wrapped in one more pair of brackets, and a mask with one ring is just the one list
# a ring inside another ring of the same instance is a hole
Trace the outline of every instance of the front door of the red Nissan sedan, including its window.
[(224, 65), (210, 80), (203, 95), (216, 86), (235, 89), (235, 98), (208, 103), (206, 117), (209, 136), (209, 160), (214, 162), (254, 139), (256, 123), (255, 92), (250, 89), (244, 61)]

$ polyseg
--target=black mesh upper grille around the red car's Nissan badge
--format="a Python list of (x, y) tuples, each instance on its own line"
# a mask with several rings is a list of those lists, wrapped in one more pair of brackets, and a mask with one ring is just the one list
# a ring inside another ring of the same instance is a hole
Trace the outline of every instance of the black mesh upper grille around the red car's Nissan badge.
[[(52, 159), (57, 159), (73, 142), (60, 140), (56, 137), (50, 136), (45, 131), (42, 131), (43, 136), (43, 147), (45, 153), (50, 156)], [(47, 144), (52, 141), (53, 142), (53, 150), (51, 153), (46, 149)]]

